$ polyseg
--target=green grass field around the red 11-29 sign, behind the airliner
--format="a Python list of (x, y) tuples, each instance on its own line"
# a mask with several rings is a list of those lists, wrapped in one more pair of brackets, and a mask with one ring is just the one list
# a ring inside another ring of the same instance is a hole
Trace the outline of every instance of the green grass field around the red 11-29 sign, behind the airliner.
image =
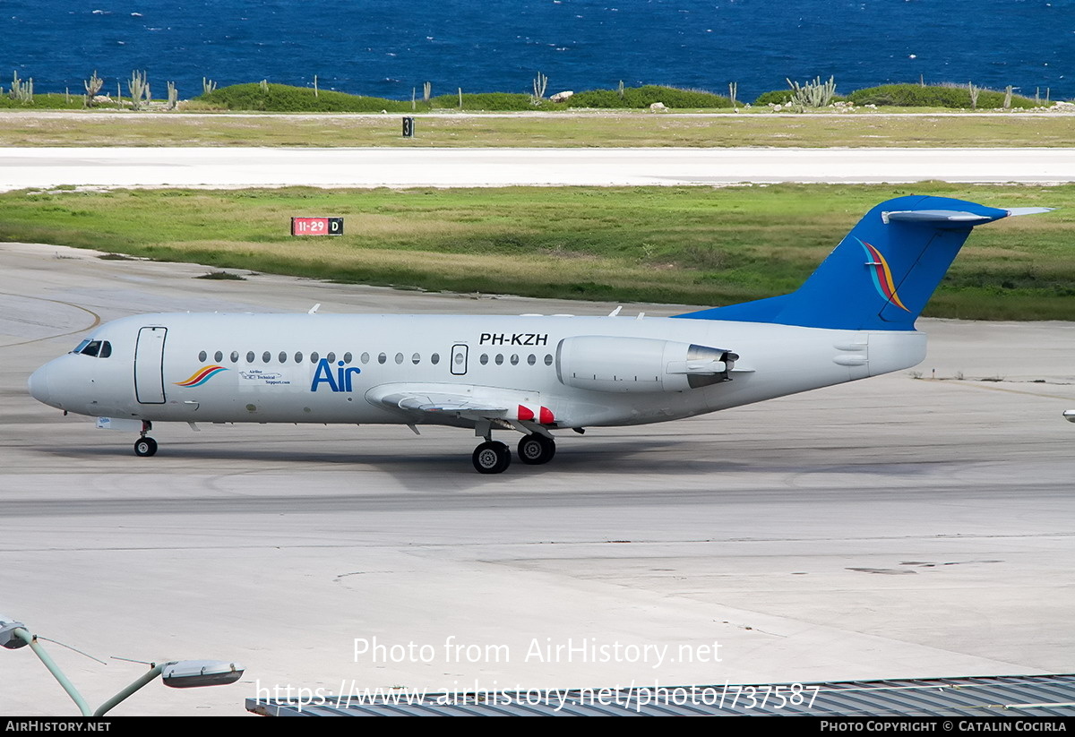
[[(1075, 186), (780, 185), (0, 194), (0, 240), (461, 292), (719, 305), (796, 289), (877, 202), (1059, 212), (975, 232), (927, 314), (1075, 319)], [(292, 215), (346, 234), (292, 237)]]

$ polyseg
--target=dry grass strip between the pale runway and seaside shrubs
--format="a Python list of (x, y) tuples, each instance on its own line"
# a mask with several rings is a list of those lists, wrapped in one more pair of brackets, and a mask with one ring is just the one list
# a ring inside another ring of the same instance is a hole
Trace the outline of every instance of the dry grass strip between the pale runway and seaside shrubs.
[(1071, 147), (1065, 115), (800, 116), (660, 113), (417, 116), (0, 113), (0, 146), (402, 146), (422, 147)]

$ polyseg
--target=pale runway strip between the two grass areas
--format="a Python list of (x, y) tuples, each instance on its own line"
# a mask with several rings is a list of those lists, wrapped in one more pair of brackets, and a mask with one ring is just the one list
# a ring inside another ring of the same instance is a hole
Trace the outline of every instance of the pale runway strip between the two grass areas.
[(0, 148), (0, 191), (76, 187), (1056, 184), (1069, 148)]

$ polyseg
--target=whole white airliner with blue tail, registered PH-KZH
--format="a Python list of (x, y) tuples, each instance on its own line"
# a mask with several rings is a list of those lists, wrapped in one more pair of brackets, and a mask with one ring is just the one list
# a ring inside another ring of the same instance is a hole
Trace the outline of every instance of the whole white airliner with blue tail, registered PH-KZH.
[[(915, 320), (998, 209), (903, 197), (871, 209), (797, 291), (671, 318), (139, 315), (39, 368), (30, 393), (100, 427), (340, 422), (473, 429), (483, 474), (546, 463), (553, 431), (663, 422), (908, 368)], [(313, 313), (314, 310), (312, 310)]]

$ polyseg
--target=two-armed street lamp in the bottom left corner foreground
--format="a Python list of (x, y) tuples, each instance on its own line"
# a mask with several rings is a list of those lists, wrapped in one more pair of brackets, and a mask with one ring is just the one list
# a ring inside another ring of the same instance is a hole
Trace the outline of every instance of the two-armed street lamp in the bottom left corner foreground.
[(149, 670), (143, 674), (141, 678), (106, 700), (97, 710), (92, 710), (86, 704), (86, 699), (82, 697), (82, 694), (78, 693), (78, 690), (74, 688), (67, 676), (53, 662), (53, 659), (48, 656), (44, 648), (41, 647), (37, 635), (31, 634), (22, 622), (0, 615), (0, 647), (4, 647), (8, 650), (17, 650), (27, 645), (30, 646), (34, 654), (48, 668), (48, 673), (68, 692), (68, 695), (71, 696), (71, 699), (78, 707), (83, 717), (101, 717), (108, 713), (109, 710), (132, 693), (155, 680), (157, 676), (162, 676), (161, 680), (164, 682), (164, 685), (173, 689), (225, 685), (234, 683), (243, 676), (243, 666), (238, 663), (227, 663), (224, 661), (168, 661), (166, 663), (149, 663)]

